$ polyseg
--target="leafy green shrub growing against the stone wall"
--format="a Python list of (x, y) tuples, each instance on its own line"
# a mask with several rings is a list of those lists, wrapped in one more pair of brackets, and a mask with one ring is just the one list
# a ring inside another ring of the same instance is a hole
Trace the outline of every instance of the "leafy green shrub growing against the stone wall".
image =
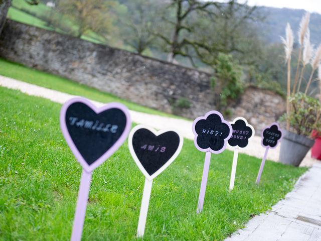
[(228, 99), (235, 99), (243, 92), (241, 66), (233, 61), (232, 55), (220, 53), (217, 59), (216, 76), (222, 82), (221, 107), (226, 106)]

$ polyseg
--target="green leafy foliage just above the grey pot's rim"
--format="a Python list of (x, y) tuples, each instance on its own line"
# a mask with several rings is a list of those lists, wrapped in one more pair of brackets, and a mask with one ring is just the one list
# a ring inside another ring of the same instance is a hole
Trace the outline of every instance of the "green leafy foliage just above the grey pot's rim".
[(283, 121), (290, 123), (290, 131), (309, 137), (312, 130), (321, 132), (321, 103), (304, 93), (298, 92), (289, 97), (290, 115), (284, 114)]

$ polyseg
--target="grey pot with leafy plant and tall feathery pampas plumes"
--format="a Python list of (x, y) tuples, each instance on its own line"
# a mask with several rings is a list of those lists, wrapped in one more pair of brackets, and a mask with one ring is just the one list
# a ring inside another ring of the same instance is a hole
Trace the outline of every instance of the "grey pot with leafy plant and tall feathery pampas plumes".
[[(313, 93), (316, 90), (308, 92), (313, 74), (317, 69), (319, 83), (321, 81), (321, 44), (316, 50), (313, 50), (313, 46), (310, 44), (309, 17), (309, 13), (306, 13), (300, 22), (298, 31), (300, 48), (293, 82), (291, 81), (291, 54), (294, 37), (289, 24), (285, 29), (286, 38), (282, 38), (287, 63), (287, 99), (286, 113), (281, 118), (286, 122), (286, 130), (283, 132), (279, 161), (293, 166), (299, 166), (306, 153), (313, 146), (314, 136), (311, 135), (312, 131), (321, 131), (321, 93), (319, 94), (319, 100), (308, 96), (308, 93)], [(300, 92), (301, 87), (303, 87), (301, 86), (304, 79), (303, 73), (308, 64), (311, 65), (311, 73), (304, 92)], [(321, 83), (319, 87), (321, 92)]]

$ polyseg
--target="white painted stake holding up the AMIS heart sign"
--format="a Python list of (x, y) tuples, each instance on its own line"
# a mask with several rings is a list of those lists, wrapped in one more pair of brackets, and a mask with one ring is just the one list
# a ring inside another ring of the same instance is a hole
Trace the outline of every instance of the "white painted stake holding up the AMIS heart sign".
[(138, 227), (137, 227), (137, 237), (142, 237), (145, 232), (147, 211), (148, 211), (148, 205), (149, 205), (149, 199), (150, 199), (150, 193), (151, 193), (151, 184), (152, 184), (152, 180), (148, 180), (147, 178), (145, 178), (144, 191), (142, 193)]

